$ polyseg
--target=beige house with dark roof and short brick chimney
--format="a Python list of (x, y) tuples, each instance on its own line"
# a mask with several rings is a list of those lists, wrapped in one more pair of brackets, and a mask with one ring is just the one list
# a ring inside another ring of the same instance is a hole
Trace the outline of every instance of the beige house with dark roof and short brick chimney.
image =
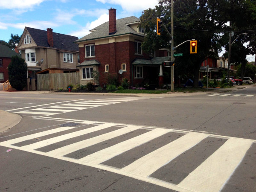
[(78, 38), (25, 27), (17, 50), (28, 65), (28, 77), (35, 79), (35, 74), (76, 72), (79, 63), (79, 48), (73, 42)]

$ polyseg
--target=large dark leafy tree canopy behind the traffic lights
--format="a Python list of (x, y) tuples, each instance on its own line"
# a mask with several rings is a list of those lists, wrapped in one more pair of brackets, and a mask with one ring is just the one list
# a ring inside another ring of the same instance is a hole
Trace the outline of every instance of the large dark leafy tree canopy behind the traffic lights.
[[(189, 42), (177, 47), (176, 52), (183, 53), (183, 56), (175, 58), (175, 74), (178, 76), (191, 74), (194, 77), (194, 86), (197, 86), (201, 63), (206, 57), (218, 58), (221, 47), (228, 42), (227, 37), (230, 31), (228, 22), (238, 17), (234, 10), (239, 10), (239, 15), (244, 18), (246, 16), (243, 15), (243, 9), (247, 9), (246, 21), (254, 22), (248, 18), (256, 15), (256, 12), (252, 14), (254, 9), (249, 6), (251, 2), (250, 0), (175, 0), (174, 47), (190, 39), (198, 41), (197, 54), (189, 54)], [(155, 9), (143, 11), (140, 19), (146, 34), (142, 45), (144, 51), (151, 52), (159, 48), (170, 47), (168, 44), (170, 38), (167, 32), (163, 31), (161, 35), (156, 33), (156, 17), (159, 17), (170, 31), (170, 9), (170, 0), (160, 0)], [(231, 21), (230, 23), (235, 22)], [(239, 30), (241, 27), (242, 25), (239, 26)], [(254, 25), (250, 27), (253, 29)], [(247, 41), (248, 39), (244, 39), (242, 43)], [(253, 47), (252, 44), (250, 47)], [(251, 48), (250, 51), (252, 50)], [(245, 57), (247, 53), (244, 53)]]

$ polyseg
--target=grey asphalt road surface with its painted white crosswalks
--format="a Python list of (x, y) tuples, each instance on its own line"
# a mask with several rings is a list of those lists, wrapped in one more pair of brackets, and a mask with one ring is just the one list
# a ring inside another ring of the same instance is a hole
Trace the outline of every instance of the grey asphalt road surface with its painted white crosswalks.
[(256, 87), (0, 98), (23, 117), (0, 134), (1, 191), (256, 191)]

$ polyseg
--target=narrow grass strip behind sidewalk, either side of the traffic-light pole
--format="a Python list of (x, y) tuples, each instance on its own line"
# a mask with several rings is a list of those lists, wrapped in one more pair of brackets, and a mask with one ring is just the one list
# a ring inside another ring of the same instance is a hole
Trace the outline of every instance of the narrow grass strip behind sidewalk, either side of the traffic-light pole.
[[(171, 90), (132, 90), (132, 89), (124, 89), (124, 90), (116, 90), (111, 91), (109, 93), (152, 93), (152, 94), (160, 94), (160, 93), (168, 93)], [(192, 92), (201, 92), (201, 91), (207, 91), (207, 89), (204, 88), (183, 88), (183, 87), (177, 87), (174, 88), (174, 92), (184, 92), (184, 93), (192, 93)]]

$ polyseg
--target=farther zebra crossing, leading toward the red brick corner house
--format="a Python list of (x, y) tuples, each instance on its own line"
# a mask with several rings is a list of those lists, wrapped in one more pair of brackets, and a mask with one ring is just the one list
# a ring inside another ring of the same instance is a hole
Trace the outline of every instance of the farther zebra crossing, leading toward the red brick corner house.
[(104, 105), (113, 105), (122, 102), (131, 102), (135, 100), (143, 100), (143, 99), (154, 99), (159, 97), (125, 97), (125, 98), (109, 98), (109, 99), (95, 99), (95, 100), (87, 100), (87, 101), (79, 101), (79, 102), (71, 102), (65, 103), (61, 105), (54, 105), (43, 108), (34, 108), (25, 111), (17, 111), (14, 113), (20, 114), (31, 114), (38, 116), (50, 116), (56, 115), (60, 113), (68, 113), (78, 110), (84, 110), (89, 108), (101, 107)]

